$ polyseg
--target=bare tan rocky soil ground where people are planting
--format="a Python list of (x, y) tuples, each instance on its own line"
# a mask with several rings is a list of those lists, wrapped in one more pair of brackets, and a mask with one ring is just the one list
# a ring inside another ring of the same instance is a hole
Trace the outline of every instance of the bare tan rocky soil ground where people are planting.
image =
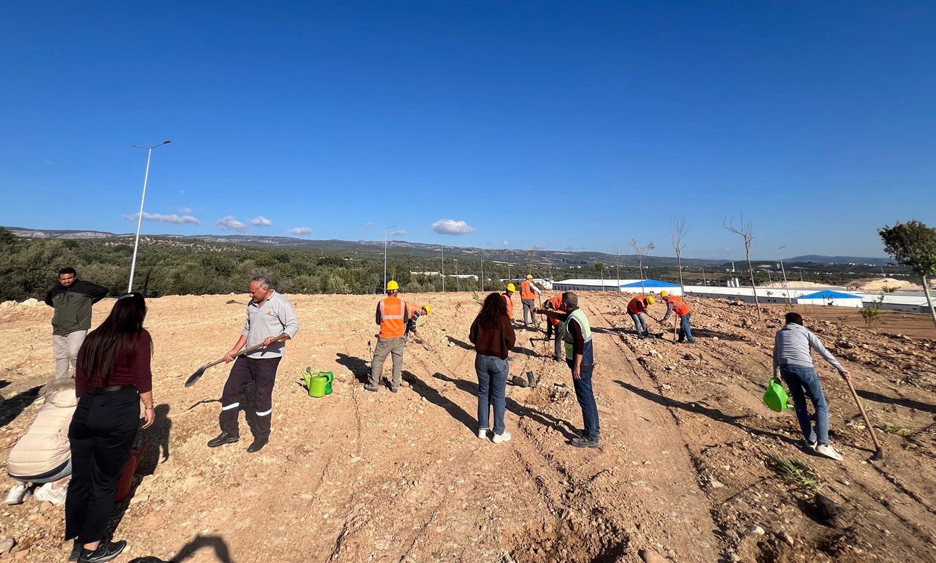
[[(628, 296), (580, 295), (596, 332), (599, 449), (568, 445), (581, 425), (569, 370), (523, 330), (512, 375), (532, 370), (539, 385), (508, 387), (513, 440), (475, 437), (466, 342), (478, 306), (450, 293), (408, 296), (432, 305), (420, 332), (433, 351), (408, 344), (398, 394), (359, 383), (378, 297), (289, 296), (302, 327), (280, 366), (271, 443), (256, 455), (243, 422), (241, 442), (205, 445), (218, 432), (226, 367), (183, 387), (237, 339), (246, 297), (151, 300), (158, 420), (140, 432), (149, 448), (139, 484), (115, 512), (116, 537), (130, 543), (118, 563), (631, 562), (640, 550), (676, 562), (936, 561), (936, 331), (926, 317), (884, 311), (880, 331), (866, 331), (854, 311), (805, 310), (852, 371), (884, 445), (884, 461), (867, 461), (868, 430), (846, 385), (817, 364), (840, 463), (800, 450), (792, 411), (760, 402), (784, 309), (758, 323), (753, 306), (692, 299), (689, 346), (672, 341), (671, 325), (662, 339), (634, 339)], [(0, 457), (51, 376), (50, 319), (41, 304), (0, 309)], [(298, 384), (306, 366), (335, 372), (333, 395), (308, 397)], [(816, 483), (784, 480), (770, 455), (806, 464)], [(815, 487), (841, 512), (824, 516)], [(0, 538), (17, 544), (0, 560), (65, 561), (63, 529), (60, 507), (3, 507)]]

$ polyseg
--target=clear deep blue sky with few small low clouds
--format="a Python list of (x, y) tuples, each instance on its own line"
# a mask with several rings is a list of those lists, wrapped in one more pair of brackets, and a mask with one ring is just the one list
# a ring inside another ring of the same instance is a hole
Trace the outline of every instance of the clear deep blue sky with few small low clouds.
[(936, 224), (933, 29), (913, 1), (14, 3), (0, 224), (131, 232), (133, 145), (171, 139), (144, 233), (672, 255), (684, 217), (684, 255), (737, 258), (743, 213), (755, 256), (880, 256)]

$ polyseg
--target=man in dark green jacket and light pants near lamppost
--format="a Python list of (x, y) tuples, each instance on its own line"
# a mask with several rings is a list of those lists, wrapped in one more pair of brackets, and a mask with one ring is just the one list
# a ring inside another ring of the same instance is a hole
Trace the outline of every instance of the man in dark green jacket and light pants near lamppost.
[(75, 377), (75, 360), (84, 337), (91, 328), (91, 306), (108, 295), (108, 288), (78, 279), (73, 267), (59, 270), (59, 284), (46, 294), (52, 314), (52, 354), (55, 355), (55, 379)]

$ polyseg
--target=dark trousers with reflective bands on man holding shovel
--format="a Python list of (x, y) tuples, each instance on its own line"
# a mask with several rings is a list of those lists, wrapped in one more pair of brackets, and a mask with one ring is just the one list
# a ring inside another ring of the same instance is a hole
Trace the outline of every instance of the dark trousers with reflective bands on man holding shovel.
[(225, 390), (221, 394), (221, 431), (240, 436), (237, 413), (241, 407), (241, 388), (250, 382), (256, 385), (254, 408), (256, 409), (256, 438), (270, 437), (270, 419), (273, 413), (273, 383), (276, 368), (283, 356), (275, 358), (249, 358), (241, 356), (234, 361), (227, 376)]

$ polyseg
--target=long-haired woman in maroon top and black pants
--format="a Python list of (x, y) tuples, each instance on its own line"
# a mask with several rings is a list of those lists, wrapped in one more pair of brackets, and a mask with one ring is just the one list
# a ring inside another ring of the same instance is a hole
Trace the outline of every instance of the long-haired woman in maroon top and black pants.
[(140, 400), (143, 427), (155, 419), (153, 339), (143, 328), (144, 318), (141, 294), (119, 297), (78, 353), (78, 408), (68, 427), (72, 478), (65, 503), (65, 537), (76, 538), (71, 561), (110, 561), (126, 547), (126, 541), (110, 541), (107, 528), (117, 484), (137, 437)]

